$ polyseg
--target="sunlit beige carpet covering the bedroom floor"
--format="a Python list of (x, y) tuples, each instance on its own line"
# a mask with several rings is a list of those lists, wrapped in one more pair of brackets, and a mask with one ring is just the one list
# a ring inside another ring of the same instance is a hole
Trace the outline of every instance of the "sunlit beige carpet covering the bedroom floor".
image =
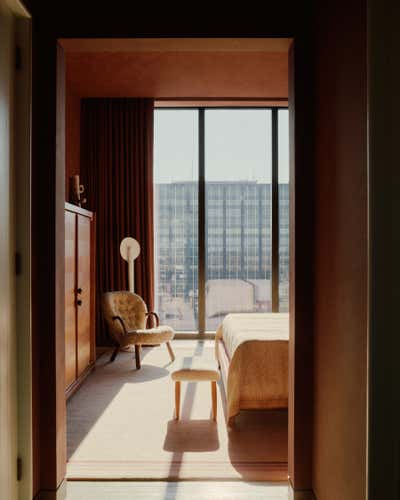
[[(177, 357), (213, 357), (212, 342), (178, 340)], [(287, 413), (246, 411), (227, 429), (218, 390), (211, 420), (209, 383), (184, 383), (181, 420), (165, 346), (114, 363), (102, 356), (67, 405), (68, 479), (287, 479)]]

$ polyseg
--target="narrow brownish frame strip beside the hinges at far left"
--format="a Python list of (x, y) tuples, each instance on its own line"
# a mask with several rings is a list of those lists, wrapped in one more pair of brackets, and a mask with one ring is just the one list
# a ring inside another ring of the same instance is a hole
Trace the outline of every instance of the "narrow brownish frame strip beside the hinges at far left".
[[(19, 4), (19, 2), (18, 2)], [(18, 369), (18, 455), (20, 498), (32, 498), (32, 295), (31, 295), (31, 148), (32, 148), (32, 20), (26, 9), (16, 19), (21, 65), (16, 78), (16, 279)]]

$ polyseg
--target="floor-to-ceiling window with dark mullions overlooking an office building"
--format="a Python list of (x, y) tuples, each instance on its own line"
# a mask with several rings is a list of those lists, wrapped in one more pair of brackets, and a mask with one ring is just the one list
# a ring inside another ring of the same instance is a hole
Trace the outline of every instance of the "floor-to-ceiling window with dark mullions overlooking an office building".
[(287, 110), (156, 109), (154, 132), (161, 319), (203, 333), (288, 310)]

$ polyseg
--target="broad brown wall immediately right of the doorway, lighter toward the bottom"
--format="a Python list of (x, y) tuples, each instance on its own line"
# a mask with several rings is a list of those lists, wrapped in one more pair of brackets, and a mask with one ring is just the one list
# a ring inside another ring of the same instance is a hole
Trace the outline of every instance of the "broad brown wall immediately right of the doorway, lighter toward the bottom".
[(366, 6), (361, 0), (337, 2), (329, 11), (321, 8), (316, 19), (313, 488), (318, 500), (363, 500), (368, 287)]

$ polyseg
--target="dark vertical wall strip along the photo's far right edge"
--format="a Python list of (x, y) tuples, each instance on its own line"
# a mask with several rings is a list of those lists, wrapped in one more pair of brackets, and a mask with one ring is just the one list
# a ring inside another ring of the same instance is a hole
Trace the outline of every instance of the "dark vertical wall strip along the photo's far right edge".
[(400, 498), (400, 4), (369, 0), (369, 499)]

